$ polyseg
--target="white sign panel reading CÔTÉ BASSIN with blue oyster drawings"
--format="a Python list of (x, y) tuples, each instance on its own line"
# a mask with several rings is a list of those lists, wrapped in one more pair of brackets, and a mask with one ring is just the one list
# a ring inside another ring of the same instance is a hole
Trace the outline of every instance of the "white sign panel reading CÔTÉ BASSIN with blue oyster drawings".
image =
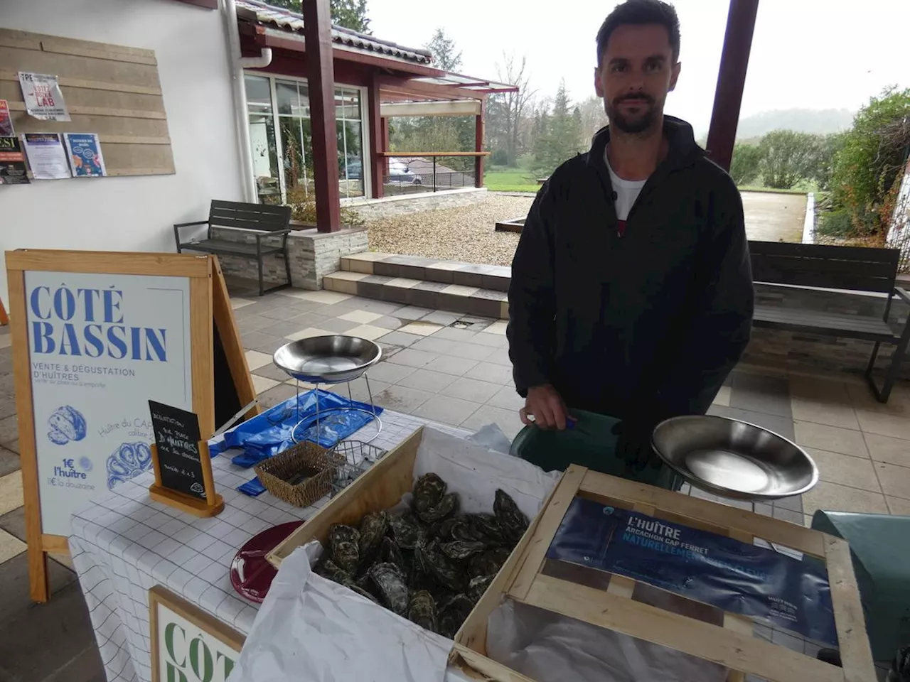
[(193, 408), (189, 278), (26, 271), (25, 305), (42, 530), (67, 536), (151, 468), (149, 399)]

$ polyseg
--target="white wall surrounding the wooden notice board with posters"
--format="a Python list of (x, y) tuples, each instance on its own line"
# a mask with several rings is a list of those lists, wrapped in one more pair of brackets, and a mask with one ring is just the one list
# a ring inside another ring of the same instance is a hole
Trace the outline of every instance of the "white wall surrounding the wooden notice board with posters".
[(174, 223), (204, 219), (212, 198), (243, 200), (219, 11), (174, 0), (0, 0), (0, 27), (155, 50), (177, 168), (172, 176), (0, 186), (0, 251), (173, 253)]

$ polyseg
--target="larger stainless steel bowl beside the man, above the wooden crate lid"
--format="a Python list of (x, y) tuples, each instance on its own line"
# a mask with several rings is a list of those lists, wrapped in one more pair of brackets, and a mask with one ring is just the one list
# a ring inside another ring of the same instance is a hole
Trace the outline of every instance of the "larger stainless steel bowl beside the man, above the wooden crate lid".
[(800, 446), (724, 416), (674, 416), (657, 425), (652, 445), (693, 486), (724, 497), (778, 499), (818, 482), (818, 468)]

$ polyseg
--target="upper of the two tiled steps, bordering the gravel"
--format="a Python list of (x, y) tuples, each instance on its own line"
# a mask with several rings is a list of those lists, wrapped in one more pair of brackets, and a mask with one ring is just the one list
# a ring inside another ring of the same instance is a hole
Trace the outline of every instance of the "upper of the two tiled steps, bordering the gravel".
[(511, 267), (508, 266), (482, 266), (476, 263), (380, 254), (372, 251), (343, 256), (341, 269), (346, 272), (406, 277), (424, 282), (472, 286), (492, 291), (509, 291), (511, 280)]

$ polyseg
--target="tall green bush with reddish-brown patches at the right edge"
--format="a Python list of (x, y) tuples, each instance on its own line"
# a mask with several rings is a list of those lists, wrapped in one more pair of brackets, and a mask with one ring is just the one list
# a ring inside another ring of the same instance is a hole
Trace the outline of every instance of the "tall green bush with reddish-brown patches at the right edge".
[(834, 156), (835, 207), (853, 216), (865, 235), (885, 236), (894, 214), (899, 178), (910, 149), (910, 88), (871, 97)]

